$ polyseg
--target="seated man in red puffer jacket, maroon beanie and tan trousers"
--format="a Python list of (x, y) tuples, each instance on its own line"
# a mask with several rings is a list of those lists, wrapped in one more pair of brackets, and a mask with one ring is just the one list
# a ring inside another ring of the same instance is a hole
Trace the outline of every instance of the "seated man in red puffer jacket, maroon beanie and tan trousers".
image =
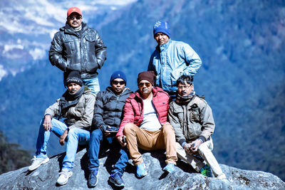
[(175, 132), (167, 122), (170, 96), (161, 88), (153, 87), (154, 83), (153, 71), (138, 74), (139, 89), (125, 101), (123, 121), (116, 135), (123, 147), (128, 146), (138, 177), (147, 174), (138, 148), (166, 149), (167, 165), (162, 170), (168, 173), (175, 170), (177, 161)]

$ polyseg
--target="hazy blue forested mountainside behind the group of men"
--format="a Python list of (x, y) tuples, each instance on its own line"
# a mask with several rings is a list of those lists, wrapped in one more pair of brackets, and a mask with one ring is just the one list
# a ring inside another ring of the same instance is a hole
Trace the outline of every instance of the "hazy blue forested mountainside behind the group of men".
[[(113, 70), (123, 70), (136, 89), (136, 77), (156, 46), (152, 26), (168, 21), (172, 40), (189, 43), (202, 58), (195, 90), (214, 112), (218, 161), (285, 180), (284, 8), (284, 1), (145, 0), (113, 17), (89, 19), (108, 46), (101, 90)], [(44, 110), (63, 93), (62, 73), (43, 60), (0, 86), (0, 129), (33, 152)], [(54, 141), (51, 152), (58, 151)]]

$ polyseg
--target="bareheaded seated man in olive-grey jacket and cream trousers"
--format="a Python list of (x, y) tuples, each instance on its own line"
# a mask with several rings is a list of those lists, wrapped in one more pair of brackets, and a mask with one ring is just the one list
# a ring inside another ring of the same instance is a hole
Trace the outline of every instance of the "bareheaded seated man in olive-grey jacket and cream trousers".
[(227, 180), (212, 154), (215, 125), (211, 107), (195, 95), (191, 75), (182, 75), (176, 84), (177, 97), (170, 103), (168, 116), (175, 130), (178, 157), (204, 176), (212, 176), (213, 171), (218, 179)]

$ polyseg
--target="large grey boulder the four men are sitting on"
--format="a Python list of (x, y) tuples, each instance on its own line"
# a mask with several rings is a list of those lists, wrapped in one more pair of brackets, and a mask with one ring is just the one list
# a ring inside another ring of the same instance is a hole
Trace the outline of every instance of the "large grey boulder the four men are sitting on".
[[(63, 154), (58, 154), (41, 165), (35, 171), (27, 171), (28, 167), (9, 171), (0, 175), (0, 189), (89, 189), (87, 185), (87, 153), (79, 151), (73, 168), (73, 176), (68, 184), (57, 186)], [(123, 174), (125, 189), (285, 189), (285, 183), (279, 177), (264, 171), (248, 171), (228, 167), (221, 164), (229, 181), (209, 178), (196, 173), (185, 162), (177, 162), (175, 172), (165, 174), (165, 153), (163, 151), (145, 152), (142, 154), (147, 167), (147, 176), (135, 177), (135, 167), (129, 165)], [(112, 167), (112, 154), (103, 154), (100, 158), (98, 184), (95, 189), (116, 189), (108, 182)]]

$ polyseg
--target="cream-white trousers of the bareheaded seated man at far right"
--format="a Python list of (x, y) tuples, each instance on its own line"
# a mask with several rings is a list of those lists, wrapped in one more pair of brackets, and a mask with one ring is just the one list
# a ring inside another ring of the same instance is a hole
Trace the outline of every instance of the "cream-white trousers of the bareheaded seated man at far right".
[[(219, 167), (219, 164), (217, 162), (217, 159), (214, 157), (214, 154), (212, 153), (213, 149), (213, 142), (212, 138), (207, 140), (206, 142), (203, 142), (199, 148), (198, 153), (199, 155), (209, 164), (209, 167), (211, 167), (214, 176), (218, 176), (220, 174), (223, 174), (221, 167)], [(190, 164), (196, 171), (200, 171), (200, 169), (204, 166), (203, 162), (201, 162), (199, 159), (194, 157), (192, 154), (189, 154), (185, 152), (185, 149), (181, 147), (181, 145), (176, 142), (176, 150), (177, 150), (177, 156)]]

